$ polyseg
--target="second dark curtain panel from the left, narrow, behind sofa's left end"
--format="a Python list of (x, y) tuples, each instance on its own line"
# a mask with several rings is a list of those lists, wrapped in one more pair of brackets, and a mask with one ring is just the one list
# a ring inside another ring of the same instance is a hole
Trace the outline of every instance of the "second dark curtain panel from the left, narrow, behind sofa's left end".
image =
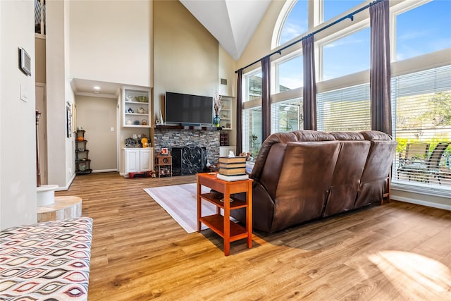
[(271, 135), (271, 59), (261, 59), (261, 141)]

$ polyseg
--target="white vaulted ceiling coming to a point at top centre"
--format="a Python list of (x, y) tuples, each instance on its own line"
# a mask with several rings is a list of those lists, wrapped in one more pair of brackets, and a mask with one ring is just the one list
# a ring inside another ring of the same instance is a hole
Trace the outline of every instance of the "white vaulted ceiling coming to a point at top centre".
[(271, 0), (180, 0), (235, 61), (240, 59)]

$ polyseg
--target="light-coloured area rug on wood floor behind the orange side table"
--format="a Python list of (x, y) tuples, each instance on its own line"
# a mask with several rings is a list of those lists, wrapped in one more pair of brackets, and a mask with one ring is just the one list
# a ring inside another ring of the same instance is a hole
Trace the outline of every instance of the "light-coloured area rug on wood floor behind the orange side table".
[[(187, 233), (197, 231), (197, 184), (183, 184), (144, 188), (152, 199), (160, 204)], [(209, 192), (202, 186), (202, 193)], [(216, 206), (202, 201), (202, 216), (216, 214)], [(207, 227), (202, 224), (202, 230)]]

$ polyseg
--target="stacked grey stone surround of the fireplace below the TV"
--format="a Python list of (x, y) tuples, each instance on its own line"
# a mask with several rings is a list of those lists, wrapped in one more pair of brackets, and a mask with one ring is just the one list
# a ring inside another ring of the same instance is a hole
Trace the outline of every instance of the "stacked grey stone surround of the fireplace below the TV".
[[(179, 152), (180, 148), (188, 147), (190, 150), (193, 146), (203, 149), (200, 151), (201, 154), (204, 153), (206, 160), (211, 164), (216, 163), (219, 158), (219, 131), (216, 128), (200, 127), (162, 126), (155, 128), (154, 151), (156, 153), (161, 152), (163, 147), (167, 147), (171, 152), (175, 148), (174, 150)], [(173, 166), (173, 168), (175, 167)]]

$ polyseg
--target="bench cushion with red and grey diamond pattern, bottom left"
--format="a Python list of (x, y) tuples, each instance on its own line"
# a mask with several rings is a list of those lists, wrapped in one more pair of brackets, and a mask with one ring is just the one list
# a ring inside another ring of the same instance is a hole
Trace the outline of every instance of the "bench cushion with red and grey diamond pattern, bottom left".
[(0, 231), (0, 300), (87, 300), (92, 219)]

